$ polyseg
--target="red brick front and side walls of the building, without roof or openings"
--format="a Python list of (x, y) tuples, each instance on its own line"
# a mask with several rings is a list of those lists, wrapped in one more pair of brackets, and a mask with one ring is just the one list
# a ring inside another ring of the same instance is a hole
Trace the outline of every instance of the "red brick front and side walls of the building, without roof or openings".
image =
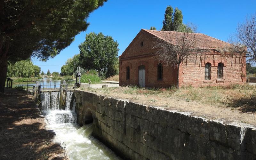
[[(143, 46), (141, 46), (143, 42)], [(131, 44), (126, 48), (119, 57), (119, 84), (137, 85), (138, 84), (138, 67), (144, 65), (146, 68), (146, 87), (170, 87), (176, 84), (177, 68), (167, 67), (163, 64), (163, 80), (157, 80), (158, 61), (153, 54), (153, 48), (156, 37), (148, 32), (141, 30), (133, 39)], [(204, 80), (205, 63), (211, 63), (211, 80)], [(224, 64), (223, 80), (217, 80), (218, 63)], [(126, 67), (130, 67), (130, 79), (126, 80)], [(245, 57), (239, 55), (226, 55), (225, 57), (218, 52), (208, 52), (205, 54), (195, 54), (190, 56), (180, 65), (179, 86), (193, 85), (229, 85), (242, 84), (246, 82)]]

